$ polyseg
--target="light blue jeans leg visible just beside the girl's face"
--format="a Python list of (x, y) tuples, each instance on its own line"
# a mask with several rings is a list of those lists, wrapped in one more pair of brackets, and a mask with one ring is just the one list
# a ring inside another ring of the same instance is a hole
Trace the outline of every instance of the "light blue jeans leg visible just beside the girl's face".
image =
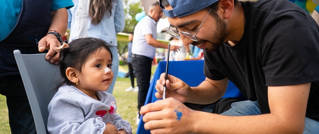
[(113, 71), (114, 76), (113, 76), (113, 81), (112, 81), (111, 85), (109, 86), (109, 89), (107, 90), (107, 92), (112, 94), (113, 90), (114, 90), (116, 78), (118, 77), (120, 61), (119, 61), (119, 57), (118, 57), (117, 46), (111, 46), (110, 49), (111, 49), (112, 56), (113, 56), (111, 69)]

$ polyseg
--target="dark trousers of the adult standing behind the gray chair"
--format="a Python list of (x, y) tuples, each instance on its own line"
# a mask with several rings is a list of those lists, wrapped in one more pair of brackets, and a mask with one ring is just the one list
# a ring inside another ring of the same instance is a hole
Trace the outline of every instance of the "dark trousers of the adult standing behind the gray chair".
[(36, 134), (21, 76), (0, 78), (0, 94), (6, 97), (11, 134)]

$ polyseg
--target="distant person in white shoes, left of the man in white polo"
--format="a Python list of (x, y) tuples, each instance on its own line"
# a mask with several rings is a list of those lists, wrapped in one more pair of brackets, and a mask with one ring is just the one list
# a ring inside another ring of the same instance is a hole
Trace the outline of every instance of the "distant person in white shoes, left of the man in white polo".
[(134, 92), (139, 91), (139, 87), (136, 86), (134, 88), (134, 69), (132, 67), (132, 41), (133, 41), (133, 36), (134, 36), (134, 32), (130, 32), (129, 33), (129, 43), (128, 43), (128, 58), (127, 58), (127, 62), (128, 62), (128, 66), (129, 66), (129, 74), (130, 74), (130, 78), (131, 78), (131, 87), (129, 87), (128, 89), (126, 89), (125, 91), (132, 91), (134, 90)]

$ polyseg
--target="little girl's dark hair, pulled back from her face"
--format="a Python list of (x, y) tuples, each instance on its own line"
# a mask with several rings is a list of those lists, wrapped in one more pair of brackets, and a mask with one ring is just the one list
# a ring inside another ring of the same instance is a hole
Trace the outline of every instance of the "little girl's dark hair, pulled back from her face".
[(65, 71), (68, 67), (73, 67), (80, 73), (87, 58), (102, 48), (111, 54), (110, 44), (98, 38), (80, 38), (73, 40), (69, 48), (62, 49), (60, 52), (60, 73), (62, 80), (57, 84), (58, 89), (63, 84), (71, 85), (72, 82), (66, 77)]

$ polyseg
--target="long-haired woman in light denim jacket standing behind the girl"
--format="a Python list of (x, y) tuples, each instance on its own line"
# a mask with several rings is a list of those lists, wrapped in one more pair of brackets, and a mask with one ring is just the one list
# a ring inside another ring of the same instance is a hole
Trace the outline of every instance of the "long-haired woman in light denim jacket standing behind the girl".
[[(74, 7), (68, 10), (68, 28), (70, 28), (69, 42), (78, 38), (79, 0), (73, 0)], [(85, 2), (85, 1), (84, 1)], [(87, 1), (88, 2), (88, 1)], [(111, 44), (113, 54), (112, 71), (114, 73), (112, 84), (107, 92), (113, 93), (115, 81), (119, 71), (119, 57), (117, 52), (117, 33), (124, 30), (125, 18), (122, 0), (90, 0), (87, 24), (87, 37), (100, 38)]]

